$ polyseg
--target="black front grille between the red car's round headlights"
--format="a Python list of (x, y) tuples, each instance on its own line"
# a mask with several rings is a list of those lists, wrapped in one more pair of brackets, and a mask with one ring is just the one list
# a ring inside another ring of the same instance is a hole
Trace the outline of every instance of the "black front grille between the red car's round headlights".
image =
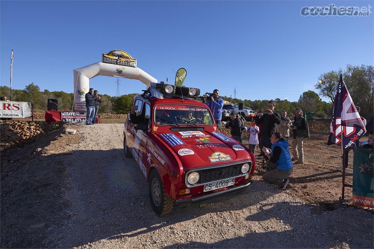
[(242, 165), (203, 169), (200, 172), (200, 184), (242, 175)]

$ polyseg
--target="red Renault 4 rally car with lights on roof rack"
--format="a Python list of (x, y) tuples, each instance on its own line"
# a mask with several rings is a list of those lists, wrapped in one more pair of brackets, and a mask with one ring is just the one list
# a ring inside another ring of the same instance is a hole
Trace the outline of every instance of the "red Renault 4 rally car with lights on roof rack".
[(152, 83), (135, 96), (138, 110), (126, 119), (125, 156), (135, 158), (148, 180), (157, 215), (175, 204), (243, 191), (253, 182), (254, 155), (218, 130), (209, 108), (194, 96), (199, 93)]

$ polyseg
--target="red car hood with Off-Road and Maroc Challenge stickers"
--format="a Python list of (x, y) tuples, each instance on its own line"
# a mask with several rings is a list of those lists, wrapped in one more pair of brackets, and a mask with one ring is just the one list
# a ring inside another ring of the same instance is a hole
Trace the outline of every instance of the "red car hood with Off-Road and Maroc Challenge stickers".
[(251, 159), (243, 145), (220, 132), (169, 132), (157, 137), (177, 154), (184, 170)]

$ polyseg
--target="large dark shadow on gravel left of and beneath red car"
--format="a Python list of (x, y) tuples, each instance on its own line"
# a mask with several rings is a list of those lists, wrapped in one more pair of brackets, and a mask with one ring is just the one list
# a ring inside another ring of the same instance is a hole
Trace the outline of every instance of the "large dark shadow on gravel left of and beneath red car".
[(242, 210), (275, 193), (261, 190), (256, 194), (261, 198), (254, 199), (250, 187), (204, 202), (202, 207), (177, 205), (159, 217), (150, 206), (141, 169), (133, 158), (125, 158), (122, 149), (50, 155), (39, 151), (35, 157), (41, 161), (30, 161), (20, 169), (19, 175), (27, 180), (7, 179), (14, 191), (1, 200), (2, 248), (72, 248), (101, 239), (135, 237), (207, 213)]

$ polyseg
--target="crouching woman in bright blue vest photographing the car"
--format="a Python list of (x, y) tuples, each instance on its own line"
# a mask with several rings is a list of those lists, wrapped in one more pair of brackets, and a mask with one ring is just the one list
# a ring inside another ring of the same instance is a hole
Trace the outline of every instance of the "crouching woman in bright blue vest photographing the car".
[(288, 141), (286, 141), (281, 133), (275, 132), (270, 138), (272, 142), (271, 156), (263, 147), (266, 157), (269, 159), (269, 172), (262, 176), (262, 179), (271, 184), (280, 185), (281, 189), (285, 189), (289, 182), (288, 177), (294, 172), (291, 156), (288, 150)]

